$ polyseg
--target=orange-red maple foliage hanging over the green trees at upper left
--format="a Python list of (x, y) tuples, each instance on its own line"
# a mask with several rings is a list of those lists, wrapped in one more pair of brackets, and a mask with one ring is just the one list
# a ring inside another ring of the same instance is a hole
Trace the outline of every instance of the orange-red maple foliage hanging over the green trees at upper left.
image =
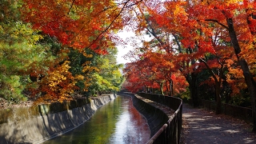
[[(119, 6), (113, 1), (24, 0), (23, 18), (34, 29), (58, 38), (64, 46), (89, 48), (98, 54), (114, 46), (111, 30), (122, 27)], [(123, 4), (124, 5), (124, 4)], [(115, 21), (115, 23), (114, 23)]]

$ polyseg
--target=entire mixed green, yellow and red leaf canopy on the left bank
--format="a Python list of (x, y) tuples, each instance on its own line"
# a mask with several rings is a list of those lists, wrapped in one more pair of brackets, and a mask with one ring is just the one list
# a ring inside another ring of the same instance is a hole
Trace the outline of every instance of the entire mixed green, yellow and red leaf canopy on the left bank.
[(119, 90), (123, 80), (113, 32), (122, 27), (128, 2), (0, 4), (1, 98), (62, 102), (75, 93)]

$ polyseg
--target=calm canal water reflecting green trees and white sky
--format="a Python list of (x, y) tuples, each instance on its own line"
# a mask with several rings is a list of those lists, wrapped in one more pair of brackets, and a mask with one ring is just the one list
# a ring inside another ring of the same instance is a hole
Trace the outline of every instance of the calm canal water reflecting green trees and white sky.
[(132, 99), (118, 96), (100, 107), (82, 126), (43, 144), (134, 144), (149, 139), (150, 128)]

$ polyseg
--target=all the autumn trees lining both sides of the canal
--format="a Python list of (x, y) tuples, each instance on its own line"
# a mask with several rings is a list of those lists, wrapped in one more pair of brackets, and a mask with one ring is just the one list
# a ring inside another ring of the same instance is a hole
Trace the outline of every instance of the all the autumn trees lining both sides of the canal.
[[(242, 104), (250, 98), (256, 131), (256, 3), (160, 0), (10, 0), (0, 2), (0, 96), (63, 101), (74, 93), (119, 90), (116, 33), (130, 38), (124, 86)], [(212, 96), (214, 94), (215, 96)]]

